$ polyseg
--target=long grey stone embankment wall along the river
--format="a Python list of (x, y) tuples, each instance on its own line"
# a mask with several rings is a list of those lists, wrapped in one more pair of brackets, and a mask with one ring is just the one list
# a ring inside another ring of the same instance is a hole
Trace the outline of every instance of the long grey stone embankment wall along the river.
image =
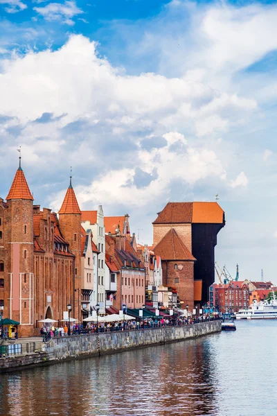
[(112, 354), (127, 349), (163, 345), (188, 338), (197, 338), (221, 331), (221, 321), (203, 322), (180, 327), (162, 327), (138, 331), (113, 331), (88, 335), (53, 338), (44, 351), (27, 356), (0, 358), (0, 372), (15, 367), (57, 362), (73, 358)]

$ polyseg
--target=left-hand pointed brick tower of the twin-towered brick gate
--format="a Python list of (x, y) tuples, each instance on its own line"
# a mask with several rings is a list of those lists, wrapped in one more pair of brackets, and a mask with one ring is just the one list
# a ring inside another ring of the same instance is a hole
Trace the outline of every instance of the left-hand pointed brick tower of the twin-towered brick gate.
[(19, 336), (32, 335), (34, 324), (33, 199), (19, 157), (19, 168), (6, 198), (9, 226), (5, 241), (8, 254), (5, 315), (20, 322)]

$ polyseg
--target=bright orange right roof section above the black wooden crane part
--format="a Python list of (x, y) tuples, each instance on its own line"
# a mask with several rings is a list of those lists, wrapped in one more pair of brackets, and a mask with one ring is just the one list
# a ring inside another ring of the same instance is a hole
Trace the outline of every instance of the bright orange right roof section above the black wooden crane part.
[(193, 223), (222, 224), (224, 211), (217, 202), (193, 202)]

